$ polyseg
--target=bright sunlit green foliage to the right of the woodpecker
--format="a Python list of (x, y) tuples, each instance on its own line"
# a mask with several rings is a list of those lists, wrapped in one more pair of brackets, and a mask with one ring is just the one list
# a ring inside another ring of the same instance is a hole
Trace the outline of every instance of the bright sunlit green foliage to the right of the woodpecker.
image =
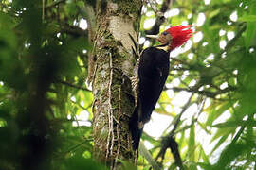
[[(144, 8), (144, 25), (155, 18), (153, 11), (154, 6)], [(190, 24), (195, 32), (191, 42), (171, 53), (167, 94), (155, 110), (174, 119), (163, 135), (176, 137), (185, 169), (252, 169), (255, 163), (248, 155), (255, 158), (255, 147), (250, 147), (255, 144), (255, 2), (175, 1), (165, 16), (160, 30)], [(165, 160), (164, 167), (174, 162), (172, 155)]]

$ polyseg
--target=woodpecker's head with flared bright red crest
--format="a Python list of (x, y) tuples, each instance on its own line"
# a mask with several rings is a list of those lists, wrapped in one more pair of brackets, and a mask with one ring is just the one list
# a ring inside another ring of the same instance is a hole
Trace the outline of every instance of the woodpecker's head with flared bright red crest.
[[(192, 37), (191, 27), (191, 25), (172, 26), (159, 36), (158, 41), (164, 43), (169, 40), (170, 50), (174, 50), (176, 47), (181, 46)], [(168, 38), (168, 36), (170, 38)]]

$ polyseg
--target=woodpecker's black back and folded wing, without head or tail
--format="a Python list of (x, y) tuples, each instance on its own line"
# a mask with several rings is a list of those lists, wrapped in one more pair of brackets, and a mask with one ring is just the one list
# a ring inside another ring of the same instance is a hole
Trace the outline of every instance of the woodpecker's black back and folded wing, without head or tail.
[(169, 74), (169, 67), (168, 52), (155, 47), (143, 51), (138, 65), (137, 100), (142, 113), (139, 122), (145, 124), (150, 120)]

